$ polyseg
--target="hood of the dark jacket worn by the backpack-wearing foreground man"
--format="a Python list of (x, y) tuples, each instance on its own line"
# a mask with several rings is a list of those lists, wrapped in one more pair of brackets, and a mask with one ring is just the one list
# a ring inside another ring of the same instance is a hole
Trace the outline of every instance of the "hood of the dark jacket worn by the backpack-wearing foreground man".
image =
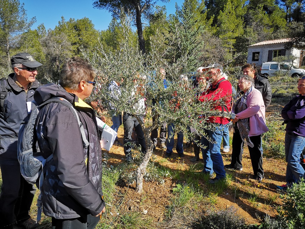
[(43, 85), (36, 89), (34, 93), (34, 100), (37, 104), (42, 104), (53, 97), (62, 97), (72, 104), (77, 96), (67, 92), (62, 86), (55, 83)]

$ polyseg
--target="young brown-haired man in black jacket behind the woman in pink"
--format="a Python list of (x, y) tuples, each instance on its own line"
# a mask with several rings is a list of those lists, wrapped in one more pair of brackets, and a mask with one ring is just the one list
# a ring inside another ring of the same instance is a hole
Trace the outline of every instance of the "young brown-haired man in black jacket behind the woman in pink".
[(267, 108), (271, 103), (272, 97), (272, 90), (268, 78), (257, 74), (255, 64), (245, 64), (242, 66), (242, 72), (244, 75), (249, 75), (254, 79), (254, 87), (262, 94), (265, 108)]

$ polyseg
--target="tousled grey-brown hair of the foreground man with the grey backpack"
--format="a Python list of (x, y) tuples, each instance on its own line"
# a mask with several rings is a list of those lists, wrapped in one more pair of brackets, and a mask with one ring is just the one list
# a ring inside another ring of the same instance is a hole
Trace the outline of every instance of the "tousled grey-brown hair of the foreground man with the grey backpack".
[(59, 74), (59, 85), (72, 90), (77, 90), (79, 82), (92, 81), (96, 76), (95, 69), (88, 60), (78, 56), (67, 58)]

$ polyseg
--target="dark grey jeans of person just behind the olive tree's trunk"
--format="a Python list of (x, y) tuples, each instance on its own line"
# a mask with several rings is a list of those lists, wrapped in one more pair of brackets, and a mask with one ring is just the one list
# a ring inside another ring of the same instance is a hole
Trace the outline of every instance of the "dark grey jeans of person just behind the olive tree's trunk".
[(135, 133), (138, 139), (138, 144), (141, 146), (141, 151), (143, 154), (145, 154), (146, 152), (146, 145), (145, 145), (145, 138), (144, 138), (144, 133), (142, 130), (142, 127), (140, 125), (140, 123), (138, 122), (138, 120), (128, 114), (128, 113), (124, 113), (123, 115), (123, 125), (124, 125), (124, 153), (125, 155), (130, 154), (131, 152), (131, 145), (130, 144), (126, 144), (128, 142), (131, 142), (131, 134), (132, 134), (132, 129), (135, 127)]

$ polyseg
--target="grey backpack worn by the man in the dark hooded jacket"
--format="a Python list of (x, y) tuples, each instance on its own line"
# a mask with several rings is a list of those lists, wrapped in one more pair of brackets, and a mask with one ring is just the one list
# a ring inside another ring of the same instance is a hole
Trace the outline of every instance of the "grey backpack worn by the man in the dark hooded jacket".
[[(37, 115), (41, 107), (49, 103), (61, 103), (72, 111), (75, 119), (77, 120), (79, 127), (81, 129), (81, 137), (83, 141), (84, 148), (88, 148), (89, 142), (86, 139), (85, 131), (83, 124), (80, 121), (80, 118), (77, 114), (77, 111), (64, 98), (54, 97), (46, 100), (44, 103), (34, 106), (32, 112), (30, 113), (29, 119), (26, 123), (23, 123), (20, 127), (19, 137), (18, 137), (18, 148), (17, 148), (17, 158), (20, 163), (20, 173), (29, 183), (36, 184), (38, 187), (40, 194), (37, 200), (38, 212), (37, 212), (37, 222), (41, 220), (41, 211), (42, 211), (42, 193), (43, 193), (43, 183), (44, 183), (44, 173), (45, 173), (45, 165), (52, 158), (53, 154), (51, 154), (48, 158), (44, 158), (43, 156), (34, 156), (37, 154), (36, 148), (36, 136), (35, 136), (35, 122), (37, 119)], [(33, 104), (33, 103), (32, 103)]]

